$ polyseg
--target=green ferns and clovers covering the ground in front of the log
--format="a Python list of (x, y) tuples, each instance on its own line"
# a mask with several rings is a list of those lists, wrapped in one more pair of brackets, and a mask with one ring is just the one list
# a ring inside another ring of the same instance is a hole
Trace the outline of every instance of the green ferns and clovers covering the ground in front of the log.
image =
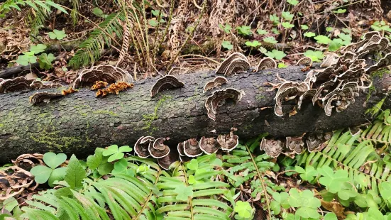
[(260, 136), (169, 170), (125, 155), (128, 146), (97, 148), (87, 160), (45, 153), (30, 170), (43, 187), (5, 199), (1, 217), (390, 219), (390, 122), (382, 111), (360, 134), (335, 131), (323, 149), (294, 158), (260, 153)]

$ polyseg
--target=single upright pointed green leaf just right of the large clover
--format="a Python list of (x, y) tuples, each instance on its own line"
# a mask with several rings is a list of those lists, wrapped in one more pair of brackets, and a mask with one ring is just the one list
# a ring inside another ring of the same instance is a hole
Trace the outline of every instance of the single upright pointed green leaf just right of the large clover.
[(75, 155), (72, 155), (67, 167), (67, 174), (65, 175), (64, 180), (70, 185), (71, 189), (82, 188), (82, 180), (86, 176), (86, 172)]

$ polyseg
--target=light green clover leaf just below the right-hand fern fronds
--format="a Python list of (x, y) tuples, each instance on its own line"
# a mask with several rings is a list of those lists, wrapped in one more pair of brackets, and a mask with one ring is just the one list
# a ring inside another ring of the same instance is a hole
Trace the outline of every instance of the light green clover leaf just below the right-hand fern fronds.
[(323, 177), (320, 177), (319, 182), (324, 185), (331, 193), (336, 193), (342, 189), (343, 182), (349, 180), (348, 171), (336, 170), (334, 172), (331, 167), (323, 166), (318, 168), (318, 172)]

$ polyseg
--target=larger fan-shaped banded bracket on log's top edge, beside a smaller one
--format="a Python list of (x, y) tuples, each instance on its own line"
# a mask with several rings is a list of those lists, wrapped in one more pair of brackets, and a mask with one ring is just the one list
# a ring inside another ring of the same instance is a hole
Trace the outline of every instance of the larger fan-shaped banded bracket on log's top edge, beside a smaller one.
[(233, 53), (226, 60), (221, 62), (217, 68), (216, 74), (224, 74), (225, 76), (233, 75), (238, 72), (246, 72), (250, 69), (250, 63), (247, 57), (241, 53)]

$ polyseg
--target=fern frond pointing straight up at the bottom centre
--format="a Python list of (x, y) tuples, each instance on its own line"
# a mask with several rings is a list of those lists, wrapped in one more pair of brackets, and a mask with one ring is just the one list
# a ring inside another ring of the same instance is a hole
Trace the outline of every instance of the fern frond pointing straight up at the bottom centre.
[[(214, 170), (215, 155), (205, 155), (197, 158), (200, 172), (186, 169), (185, 165), (175, 163), (171, 177), (161, 177), (158, 188), (163, 195), (158, 197), (158, 203), (163, 206), (156, 212), (166, 214), (165, 219), (230, 219), (233, 209), (219, 198), (229, 192), (229, 185), (214, 180), (220, 172)], [(196, 159), (193, 159), (196, 160)], [(192, 176), (195, 182), (189, 182)], [(192, 195), (181, 199), (175, 189), (190, 187)]]

